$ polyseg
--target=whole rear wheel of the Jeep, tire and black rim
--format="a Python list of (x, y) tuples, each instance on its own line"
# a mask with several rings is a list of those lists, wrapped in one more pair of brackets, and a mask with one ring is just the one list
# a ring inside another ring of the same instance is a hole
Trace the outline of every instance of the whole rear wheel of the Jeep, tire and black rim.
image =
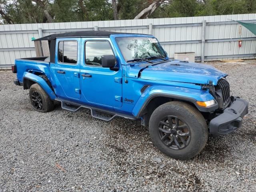
[(38, 112), (49, 112), (54, 109), (54, 102), (37, 83), (30, 87), (29, 97), (34, 110)]

